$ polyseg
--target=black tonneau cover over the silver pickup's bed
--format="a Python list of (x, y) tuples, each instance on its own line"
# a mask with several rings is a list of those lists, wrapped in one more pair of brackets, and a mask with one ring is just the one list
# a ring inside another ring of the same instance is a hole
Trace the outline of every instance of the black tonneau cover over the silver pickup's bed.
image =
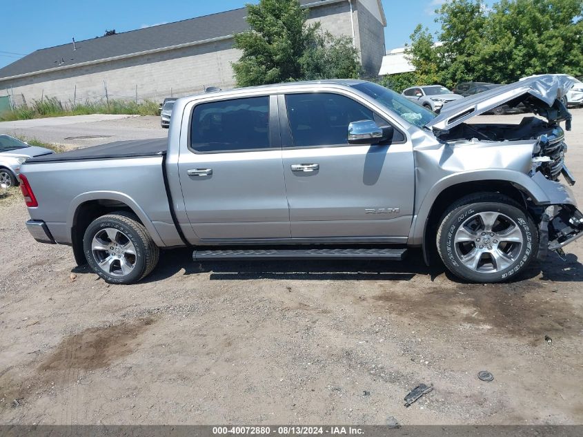
[(133, 139), (131, 141), (117, 141), (99, 146), (78, 148), (65, 153), (39, 156), (27, 159), (26, 164), (164, 155), (166, 148), (168, 148), (168, 138)]

